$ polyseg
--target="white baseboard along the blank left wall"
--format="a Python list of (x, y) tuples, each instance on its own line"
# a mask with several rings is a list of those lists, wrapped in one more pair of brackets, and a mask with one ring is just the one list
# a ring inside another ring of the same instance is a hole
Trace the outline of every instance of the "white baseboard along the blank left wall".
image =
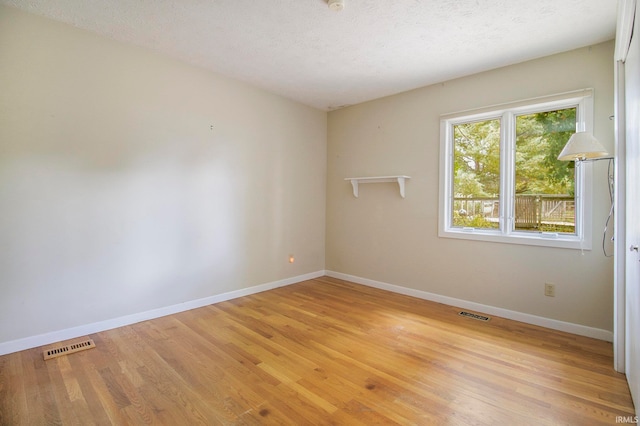
[(251, 294), (260, 293), (278, 287), (295, 284), (301, 281), (311, 280), (325, 275), (325, 271), (311, 272), (296, 277), (285, 278), (279, 281), (273, 281), (260, 284), (253, 287), (243, 288), (241, 290), (230, 291), (228, 293), (217, 294), (202, 299), (191, 300), (189, 302), (179, 303), (177, 305), (165, 306), (163, 308), (152, 309), (150, 311), (140, 312), (137, 314), (126, 315), (119, 318), (113, 318), (105, 321), (85, 324), (78, 327), (67, 328), (64, 330), (53, 331), (51, 333), (40, 334), (37, 336), (25, 337), (22, 339), (12, 340), (0, 343), (0, 355), (6, 355), (13, 352), (23, 351), (25, 349), (36, 348), (50, 343), (60, 342), (76, 337), (86, 336), (87, 334), (98, 333), (100, 331), (111, 330), (125, 325), (135, 324), (141, 321), (147, 321), (154, 318), (160, 318), (178, 312), (188, 311), (190, 309), (200, 308), (202, 306), (212, 305), (214, 303), (224, 302), (226, 300), (236, 299), (238, 297), (249, 296)]

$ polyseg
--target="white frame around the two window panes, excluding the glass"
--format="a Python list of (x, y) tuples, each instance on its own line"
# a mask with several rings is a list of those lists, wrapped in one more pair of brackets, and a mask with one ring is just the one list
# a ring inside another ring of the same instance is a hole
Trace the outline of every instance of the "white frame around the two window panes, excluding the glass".
[[(576, 131), (593, 132), (593, 89), (502, 104), (440, 117), (440, 207), (438, 236), (465, 240), (591, 250), (591, 163), (576, 162), (576, 232), (518, 231), (514, 229), (515, 116), (576, 107)], [(454, 227), (453, 127), (470, 121), (500, 119), (500, 221), (498, 229)]]

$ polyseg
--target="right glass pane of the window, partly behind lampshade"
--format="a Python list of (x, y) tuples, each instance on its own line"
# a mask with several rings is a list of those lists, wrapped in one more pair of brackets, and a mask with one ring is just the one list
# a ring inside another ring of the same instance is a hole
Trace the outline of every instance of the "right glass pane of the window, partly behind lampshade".
[(515, 229), (575, 234), (575, 169), (558, 154), (576, 131), (576, 108), (516, 117)]

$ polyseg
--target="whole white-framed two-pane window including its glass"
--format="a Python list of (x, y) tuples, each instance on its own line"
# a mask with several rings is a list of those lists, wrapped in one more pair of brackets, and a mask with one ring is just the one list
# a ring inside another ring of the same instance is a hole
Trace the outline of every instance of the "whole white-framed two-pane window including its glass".
[(590, 249), (590, 165), (558, 161), (592, 130), (592, 90), (441, 119), (441, 237)]

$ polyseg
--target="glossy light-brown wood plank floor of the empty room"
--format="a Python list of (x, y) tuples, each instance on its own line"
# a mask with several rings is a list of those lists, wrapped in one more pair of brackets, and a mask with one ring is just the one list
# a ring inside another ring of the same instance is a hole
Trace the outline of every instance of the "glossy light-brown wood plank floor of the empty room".
[[(610, 343), (319, 278), (0, 357), (2, 425), (597, 425)], [(54, 345), (51, 345), (54, 346)]]

